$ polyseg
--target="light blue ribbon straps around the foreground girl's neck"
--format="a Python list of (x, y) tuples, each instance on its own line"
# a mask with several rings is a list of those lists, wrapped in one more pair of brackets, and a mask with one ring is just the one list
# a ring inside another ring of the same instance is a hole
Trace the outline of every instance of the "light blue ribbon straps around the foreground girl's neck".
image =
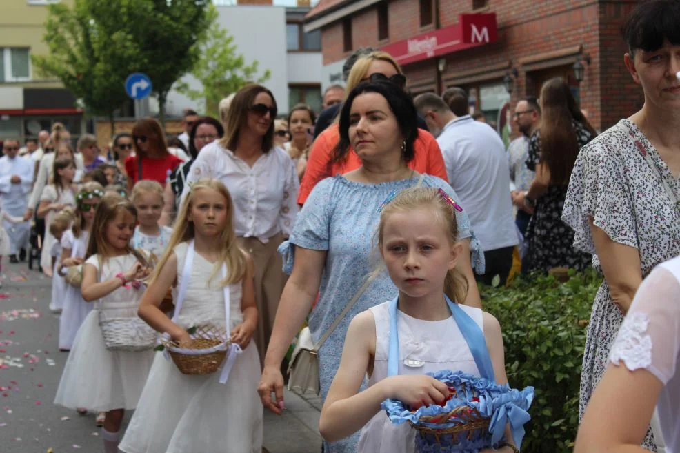
[[(458, 325), (461, 334), (463, 334), (463, 339), (468, 343), (468, 348), (470, 348), (474, 363), (477, 364), (479, 374), (483, 378), (495, 382), (494, 368), (491, 363), (489, 350), (486, 346), (484, 332), (465, 310), (460, 308), (457, 303), (453, 303), (446, 294), (444, 294), (444, 297), (446, 298), (449, 310), (451, 310), (454, 322)], [(388, 306), (390, 312), (390, 346), (388, 350), (387, 365), (388, 376), (397, 376), (399, 374), (399, 328), (397, 327), (398, 301), (399, 296), (392, 299)]]

